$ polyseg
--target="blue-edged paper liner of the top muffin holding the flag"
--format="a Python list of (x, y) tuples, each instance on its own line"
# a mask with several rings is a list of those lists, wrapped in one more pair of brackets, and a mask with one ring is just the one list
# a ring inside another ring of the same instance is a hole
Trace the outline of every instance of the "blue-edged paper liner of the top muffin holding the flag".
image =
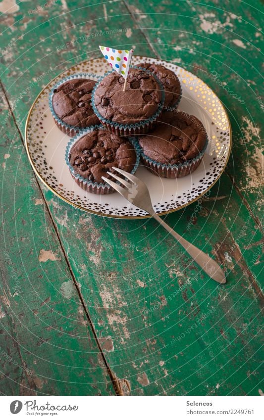
[[(131, 66), (130, 68), (139, 69), (139, 67), (137, 67), (137, 66)], [(158, 86), (159, 86), (160, 91), (161, 91), (161, 102), (160, 102), (160, 104), (158, 104), (158, 110), (155, 112), (155, 114), (152, 117), (150, 117), (146, 120), (140, 121), (139, 123), (135, 123), (135, 124), (115, 123), (115, 122), (113, 122), (113, 121), (111, 121), (107, 118), (102, 117), (102, 115), (99, 113), (99, 111), (96, 108), (95, 99), (94, 99), (95, 91), (98, 88), (100, 82), (106, 76), (111, 74), (114, 70), (110, 70), (107, 73), (105, 73), (104, 76), (101, 76), (100, 79), (98, 80), (98, 83), (95, 85), (95, 87), (93, 89), (93, 92), (92, 92), (92, 107), (93, 107), (94, 113), (99, 118), (99, 120), (102, 122), (102, 124), (104, 126), (106, 126), (108, 131), (111, 131), (112, 133), (115, 133), (118, 136), (134, 136), (134, 135), (148, 133), (148, 131), (152, 130), (156, 121), (158, 120), (159, 115), (161, 114), (162, 107), (164, 105), (164, 97), (165, 97), (163, 85), (155, 74), (149, 72), (146, 69), (140, 68), (140, 70), (145, 70), (147, 73), (149, 73), (151, 76), (153, 76), (155, 78), (155, 80), (157, 81)]]

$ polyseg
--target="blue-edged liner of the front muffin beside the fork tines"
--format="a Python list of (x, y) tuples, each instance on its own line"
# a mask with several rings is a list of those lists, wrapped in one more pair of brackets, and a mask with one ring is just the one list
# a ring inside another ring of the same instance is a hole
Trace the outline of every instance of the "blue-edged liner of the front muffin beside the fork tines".
[[(89, 128), (89, 129), (82, 129), (79, 131), (79, 133), (73, 138), (71, 139), (67, 146), (66, 146), (66, 150), (65, 150), (65, 162), (66, 165), (68, 166), (70, 173), (72, 175), (72, 177), (74, 178), (74, 180), (77, 182), (77, 184), (83, 188), (86, 191), (89, 192), (93, 192), (94, 194), (109, 194), (111, 192), (115, 192), (114, 189), (112, 187), (110, 187), (109, 185), (107, 185), (106, 183), (97, 183), (97, 182), (93, 182), (88, 180), (88, 178), (84, 178), (82, 177), (80, 174), (76, 174), (74, 172), (73, 167), (70, 164), (69, 161), (69, 153), (70, 153), (70, 149), (73, 146), (73, 144), (79, 140), (82, 136), (85, 136), (88, 133), (91, 133), (94, 130), (106, 130), (106, 128), (101, 125), (98, 126), (97, 128)], [(108, 130), (106, 130), (108, 131)], [(140, 146), (138, 144), (138, 142), (136, 141), (136, 139), (134, 138), (129, 138), (129, 139), (125, 139), (127, 141), (129, 141), (132, 146), (134, 147), (135, 151), (136, 151), (136, 163), (135, 166), (133, 168), (133, 170), (130, 172), (132, 175), (136, 172), (139, 162), (140, 162)], [(118, 184), (118, 183), (117, 183)]]

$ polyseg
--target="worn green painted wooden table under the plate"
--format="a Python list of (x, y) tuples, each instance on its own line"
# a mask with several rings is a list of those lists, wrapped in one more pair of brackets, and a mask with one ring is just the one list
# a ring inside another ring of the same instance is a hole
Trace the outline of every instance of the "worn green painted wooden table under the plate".
[[(261, 1), (2, 0), (0, 12), (0, 392), (262, 394)], [(99, 44), (178, 63), (227, 108), (224, 174), (165, 217), (222, 264), (225, 285), (155, 221), (84, 213), (36, 179), (29, 108)]]

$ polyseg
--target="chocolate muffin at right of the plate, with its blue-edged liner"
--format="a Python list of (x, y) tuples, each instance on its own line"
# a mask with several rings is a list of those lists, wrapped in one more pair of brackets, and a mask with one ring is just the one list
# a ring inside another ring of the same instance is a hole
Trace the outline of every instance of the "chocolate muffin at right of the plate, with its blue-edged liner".
[(193, 172), (201, 163), (206, 143), (201, 121), (181, 111), (164, 112), (155, 129), (139, 137), (144, 164), (164, 178)]

